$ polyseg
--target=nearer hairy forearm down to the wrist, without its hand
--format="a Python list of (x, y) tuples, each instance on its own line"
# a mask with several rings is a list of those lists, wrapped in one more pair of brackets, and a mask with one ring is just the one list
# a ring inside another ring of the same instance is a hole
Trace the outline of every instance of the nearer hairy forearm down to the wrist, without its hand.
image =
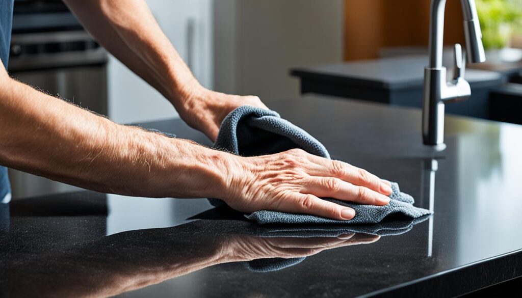
[(118, 125), (4, 78), (0, 164), (100, 192), (220, 196), (231, 155)]

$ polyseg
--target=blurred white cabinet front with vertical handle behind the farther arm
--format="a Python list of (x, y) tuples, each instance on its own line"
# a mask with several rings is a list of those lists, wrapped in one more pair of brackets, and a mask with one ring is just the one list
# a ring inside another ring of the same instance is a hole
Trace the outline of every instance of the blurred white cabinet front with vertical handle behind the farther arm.
[[(159, 25), (187, 62), (191, 52), (194, 75), (212, 87), (212, 1), (147, 0)], [(189, 23), (193, 44), (189, 44)], [(108, 65), (109, 116), (118, 123), (146, 122), (177, 116), (174, 108), (145, 81), (110, 56)]]

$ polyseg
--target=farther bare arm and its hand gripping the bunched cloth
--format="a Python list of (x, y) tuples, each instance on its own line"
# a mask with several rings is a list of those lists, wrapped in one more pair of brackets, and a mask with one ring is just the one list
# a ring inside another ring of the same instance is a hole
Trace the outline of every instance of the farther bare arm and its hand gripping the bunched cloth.
[(202, 87), (163, 34), (144, 0), (64, 0), (105, 49), (160, 91), (190, 126), (216, 139), (225, 116), (257, 97)]

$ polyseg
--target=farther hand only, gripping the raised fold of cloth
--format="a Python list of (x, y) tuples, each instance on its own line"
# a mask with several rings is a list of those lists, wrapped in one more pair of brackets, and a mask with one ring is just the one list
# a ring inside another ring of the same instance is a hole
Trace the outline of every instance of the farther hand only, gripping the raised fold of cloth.
[(178, 112), (189, 126), (216, 141), (224, 117), (242, 105), (268, 109), (257, 96), (237, 96), (200, 89), (185, 100), (183, 108), (178, 109)]

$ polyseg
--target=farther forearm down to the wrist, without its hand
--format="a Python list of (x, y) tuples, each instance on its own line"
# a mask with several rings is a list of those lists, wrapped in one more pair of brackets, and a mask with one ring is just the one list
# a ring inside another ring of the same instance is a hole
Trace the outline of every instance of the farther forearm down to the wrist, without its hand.
[(173, 103), (204, 92), (143, 0), (65, 0), (82, 25), (111, 54)]

